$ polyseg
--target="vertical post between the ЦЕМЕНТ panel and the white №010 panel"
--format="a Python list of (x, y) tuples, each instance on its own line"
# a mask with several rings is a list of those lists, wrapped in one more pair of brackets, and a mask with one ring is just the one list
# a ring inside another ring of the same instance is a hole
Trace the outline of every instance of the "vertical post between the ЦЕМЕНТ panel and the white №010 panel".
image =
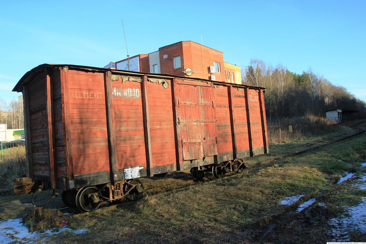
[(118, 180), (117, 174), (117, 144), (115, 132), (115, 118), (113, 106), (112, 72), (104, 72), (104, 90), (105, 90), (105, 110), (107, 112), (107, 133), (108, 133), (108, 151), (109, 165), (111, 170), (111, 181)]

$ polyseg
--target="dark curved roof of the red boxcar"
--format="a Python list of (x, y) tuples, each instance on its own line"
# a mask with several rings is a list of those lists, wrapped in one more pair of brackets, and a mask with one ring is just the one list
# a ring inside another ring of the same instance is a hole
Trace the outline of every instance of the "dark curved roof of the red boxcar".
[(240, 85), (235, 83), (227, 83), (227, 82), (220, 82), (216, 80), (208, 80), (208, 79), (202, 79), (202, 78), (194, 78), (194, 77), (186, 77), (186, 76), (176, 76), (176, 75), (169, 75), (169, 74), (151, 74), (151, 73), (142, 73), (142, 72), (136, 72), (136, 71), (126, 71), (126, 70), (114, 70), (114, 69), (108, 69), (108, 68), (98, 68), (98, 67), (91, 67), (91, 66), (83, 66), (83, 65), (73, 65), (73, 64), (41, 64), (37, 67), (31, 69), (30, 71), (26, 72), (22, 78), (16, 83), (15, 87), (12, 91), (20, 92), (22, 91), (22, 85), (25, 85), (29, 82), (31, 82), (37, 75), (44, 72), (45, 68), (60, 68), (60, 67), (69, 67), (69, 68), (82, 68), (82, 69), (88, 69), (88, 70), (94, 70), (94, 71), (112, 71), (120, 74), (135, 74), (135, 75), (149, 75), (149, 76), (155, 76), (155, 77), (161, 77), (161, 78), (181, 78), (186, 80), (200, 80), (203, 82), (213, 82), (213, 83), (221, 83), (221, 84), (231, 84), (233, 86), (238, 87), (252, 87), (252, 88), (258, 88), (258, 89), (265, 89), (264, 87), (256, 87), (256, 86), (247, 86), (247, 85)]

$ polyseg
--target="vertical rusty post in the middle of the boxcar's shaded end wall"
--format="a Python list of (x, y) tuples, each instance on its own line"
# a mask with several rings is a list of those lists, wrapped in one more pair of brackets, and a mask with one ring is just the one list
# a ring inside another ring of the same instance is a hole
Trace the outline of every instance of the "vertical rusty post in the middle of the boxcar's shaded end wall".
[(49, 161), (49, 176), (51, 178), (51, 188), (56, 188), (56, 150), (55, 150), (55, 126), (53, 124), (53, 84), (52, 71), (50, 68), (45, 68), (46, 81), (46, 111), (47, 111), (47, 139), (48, 139), (48, 161)]

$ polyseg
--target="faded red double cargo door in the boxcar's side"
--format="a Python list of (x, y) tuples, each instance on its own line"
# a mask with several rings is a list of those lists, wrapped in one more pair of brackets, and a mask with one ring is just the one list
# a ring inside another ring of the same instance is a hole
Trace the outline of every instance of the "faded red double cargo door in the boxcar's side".
[(217, 155), (217, 128), (211, 86), (178, 83), (178, 127), (183, 160)]

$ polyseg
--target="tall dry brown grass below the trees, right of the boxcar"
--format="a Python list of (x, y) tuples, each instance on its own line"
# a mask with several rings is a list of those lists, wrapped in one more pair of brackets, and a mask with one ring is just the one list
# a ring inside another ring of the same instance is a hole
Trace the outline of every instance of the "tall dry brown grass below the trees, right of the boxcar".
[[(289, 132), (289, 125), (292, 125), (292, 135)], [(293, 119), (269, 121), (267, 127), (269, 143), (286, 143), (311, 135), (336, 131), (339, 129), (339, 124), (323, 117), (307, 115)]]

